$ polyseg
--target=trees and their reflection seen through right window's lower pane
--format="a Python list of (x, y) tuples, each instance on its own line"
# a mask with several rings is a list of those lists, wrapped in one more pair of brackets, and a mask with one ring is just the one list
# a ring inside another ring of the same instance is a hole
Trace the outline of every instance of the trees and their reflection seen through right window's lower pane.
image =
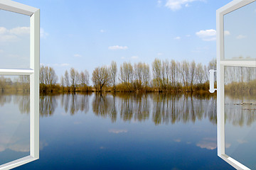
[(236, 126), (256, 120), (256, 68), (225, 67), (225, 120)]

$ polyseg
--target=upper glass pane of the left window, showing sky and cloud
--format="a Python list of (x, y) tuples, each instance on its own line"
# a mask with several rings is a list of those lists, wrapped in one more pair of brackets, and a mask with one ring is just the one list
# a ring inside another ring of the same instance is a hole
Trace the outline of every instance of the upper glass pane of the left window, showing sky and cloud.
[(30, 17), (0, 10), (0, 68), (29, 67)]

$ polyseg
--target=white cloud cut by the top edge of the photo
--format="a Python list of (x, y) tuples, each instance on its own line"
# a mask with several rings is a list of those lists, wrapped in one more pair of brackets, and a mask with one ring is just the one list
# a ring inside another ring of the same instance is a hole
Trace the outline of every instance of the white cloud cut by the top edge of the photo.
[(166, 7), (170, 8), (172, 11), (178, 11), (182, 6), (189, 6), (189, 3), (193, 1), (203, 1), (203, 0), (168, 0), (166, 2)]

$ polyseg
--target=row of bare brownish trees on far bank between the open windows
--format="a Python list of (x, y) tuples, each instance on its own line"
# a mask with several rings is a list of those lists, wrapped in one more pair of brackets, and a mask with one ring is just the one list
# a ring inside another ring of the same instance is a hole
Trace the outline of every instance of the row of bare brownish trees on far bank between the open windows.
[(65, 71), (57, 84), (58, 77), (52, 67), (41, 67), (41, 92), (65, 91), (107, 91), (107, 92), (151, 92), (151, 91), (208, 91), (208, 70), (215, 69), (216, 61), (208, 66), (195, 62), (176, 62), (155, 59), (151, 64), (124, 62), (117, 68), (112, 62), (109, 67), (102, 66), (93, 70), (91, 75), (85, 70), (71, 68)]

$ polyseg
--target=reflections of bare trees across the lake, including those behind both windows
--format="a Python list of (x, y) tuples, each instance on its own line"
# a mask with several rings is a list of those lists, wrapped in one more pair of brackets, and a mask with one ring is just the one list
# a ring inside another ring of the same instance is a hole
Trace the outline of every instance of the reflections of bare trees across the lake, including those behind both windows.
[[(235, 95), (235, 94), (234, 94)], [(225, 120), (233, 125), (251, 125), (256, 121), (255, 96), (225, 97)], [(18, 105), (21, 113), (29, 113), (30, 101), (28, 94), (0, 95), (0, 107), (5, 103)], [(117, 117), (124, 121), (145, 121), (151, 119), (155, 125), (188, 123), (196, 120), (208, 120), (216, 124), (216, 96), (171, 95), (171, 94), (63, 94), (58, 96), (40, 97), (41, 117), (55, 113), (55, 108), (64, 108), (65, 113), (75, 115), (87, 113), (90, 106), (95, 115), (110, 118)], [(244, 104), (242, 104), (244, 103)]]

